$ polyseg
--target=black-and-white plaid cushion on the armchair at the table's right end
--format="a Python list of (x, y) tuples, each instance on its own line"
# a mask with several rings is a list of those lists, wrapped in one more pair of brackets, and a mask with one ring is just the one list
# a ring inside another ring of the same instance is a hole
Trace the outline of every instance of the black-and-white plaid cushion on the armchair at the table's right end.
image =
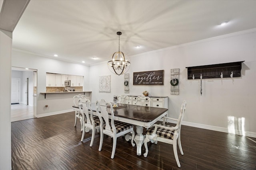
[[(166, 127), (173, 127), (173, 126), (165, 125), (165, 124), (158, 124), (158, 125), (162, 125), (162, 126), (166, 126)], [(146, 131), (146, 134), (147, 134), (147, 135), (152, 135), (153, 132), (154, 132), (154, 129), (155, 129), (154, 126), (150, 127), (150, 128)], [(158, 137), (162, 137), (162, 138), (166, 138), (166, 139), (173, 139), (174, 130), (164, 129), (164, 128), (162, 128), (162, 127), (157, 127), (156, 135), (157, 135)]]

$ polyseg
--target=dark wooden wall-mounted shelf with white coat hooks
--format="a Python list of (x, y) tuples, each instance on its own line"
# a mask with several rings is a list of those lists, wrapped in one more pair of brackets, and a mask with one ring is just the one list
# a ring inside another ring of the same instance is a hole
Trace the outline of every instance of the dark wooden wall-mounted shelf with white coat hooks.
[(193, 74), (194, 79), (200, 79), (201, 74), (203, 77), (202, 79), (221, 78), (221, 73), (223, 75), (223, 78), (227, 78), (230, 77), (230, 74), (232, 74), (232, 72), (233, 77), (240, 77), (243, 62), (244, 61), (238, 61), (233, 63), (186, 67), (188, 68), (188, 80), (193, 79)]

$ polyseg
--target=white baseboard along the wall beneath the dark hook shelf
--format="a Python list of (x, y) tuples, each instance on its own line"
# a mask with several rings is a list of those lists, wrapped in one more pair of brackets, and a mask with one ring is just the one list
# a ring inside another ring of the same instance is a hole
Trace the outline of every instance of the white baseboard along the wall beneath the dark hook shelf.
[[(174, 121), (169, 121), (169, 122), (170, 123), (177, 123), (177, 122), (174, 122)], [(242, 135), (242, 136), (247, 136), (247, 137), (256, 137), (255, 132), (248, 132), (248, 131), (242, 132), (241, 130), (237, 130), (237, 129), (233, 129), (232, 132), (230, 132), (230, 131), (228, 131), (228, 128), (210, 126), (210, 125), (203, 125), (203, 124), (198, 124), (198, 123), (191, 123), (191, 122), (187, 122), (187, 121), (182, 121), (182, 125), (191, 126), (191, 127), (198, 127), (198, 128), (208, 129), (208, 130), (212, 130), (212, 131), (232, 133), (232, 134)]]

